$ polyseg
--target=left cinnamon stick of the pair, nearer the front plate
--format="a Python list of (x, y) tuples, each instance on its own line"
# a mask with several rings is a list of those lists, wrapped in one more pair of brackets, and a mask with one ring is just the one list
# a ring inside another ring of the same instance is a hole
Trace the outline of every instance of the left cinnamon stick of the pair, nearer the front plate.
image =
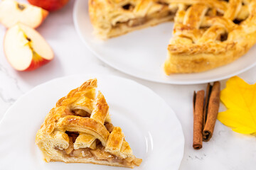
[(193, 148), (201, 149), (203, 146), (203, 90), (194, 91), (193, 95)]

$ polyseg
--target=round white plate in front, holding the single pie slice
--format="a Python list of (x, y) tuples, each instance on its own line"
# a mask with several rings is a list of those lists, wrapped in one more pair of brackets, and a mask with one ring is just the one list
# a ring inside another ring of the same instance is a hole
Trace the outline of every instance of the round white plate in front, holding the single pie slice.
[(107, 75), (54, 79), (18, 99), (0, 123), (0, 169), (125, 169), (95, 164), (43, 162), (35, 145), (36, 132), (59, 98), (83, 81), (97, 78), (114, 125), (122, 128), (134, 154), (143, 159), (135, 169), (177, 170), (183, 157), (181, 124), (166, 102), (146, 86)]

